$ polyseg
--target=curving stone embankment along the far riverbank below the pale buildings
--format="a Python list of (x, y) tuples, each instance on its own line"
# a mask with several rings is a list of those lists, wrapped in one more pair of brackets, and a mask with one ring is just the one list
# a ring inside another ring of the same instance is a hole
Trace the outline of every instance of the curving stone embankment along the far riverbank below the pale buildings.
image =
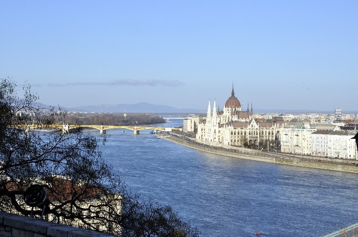
[(158, 134), (158, 137), (172, 141), (173, 143), (176, 143), (178, 145), (223, 156), (256, 160), (261, 162), (296, 165), (299, 167), (358, 173), (358, 166), (354, 165), (355, 160), (317, 158), (312, 156), (300, 157), (297, 155), (262, 152), (246, 148), (215, 146), (199, 143), (194, 138), (188, 138), (184, 135), (179, 135), (175, 133), (170, 133), (170, 136), (163, 136), (161, 134)]

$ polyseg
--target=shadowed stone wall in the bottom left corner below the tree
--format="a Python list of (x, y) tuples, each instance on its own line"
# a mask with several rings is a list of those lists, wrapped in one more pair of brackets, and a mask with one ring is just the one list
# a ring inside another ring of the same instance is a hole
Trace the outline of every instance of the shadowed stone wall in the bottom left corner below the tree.
[(0, 211), (2, 237), (110, 237), (111, 235)]

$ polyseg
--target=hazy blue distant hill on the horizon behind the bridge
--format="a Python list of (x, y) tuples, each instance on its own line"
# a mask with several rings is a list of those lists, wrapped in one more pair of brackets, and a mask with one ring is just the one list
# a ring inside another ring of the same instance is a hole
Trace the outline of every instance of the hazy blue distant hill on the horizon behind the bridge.
[(149, 103), (117, 104), (117, 105), (89, 105), (69, 108), (69, 111), (91, 112), (129, 112), (129, 113), (199, 113), (199, 109), (177, 109), (166, 105), (153, 105)]

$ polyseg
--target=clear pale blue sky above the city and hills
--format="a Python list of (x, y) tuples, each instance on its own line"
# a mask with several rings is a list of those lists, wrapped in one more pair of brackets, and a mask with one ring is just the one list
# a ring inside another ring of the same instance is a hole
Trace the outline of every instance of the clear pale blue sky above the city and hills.
[(1, 1), (0, 78), (53, 106), (358, 111), (358, 1)]

